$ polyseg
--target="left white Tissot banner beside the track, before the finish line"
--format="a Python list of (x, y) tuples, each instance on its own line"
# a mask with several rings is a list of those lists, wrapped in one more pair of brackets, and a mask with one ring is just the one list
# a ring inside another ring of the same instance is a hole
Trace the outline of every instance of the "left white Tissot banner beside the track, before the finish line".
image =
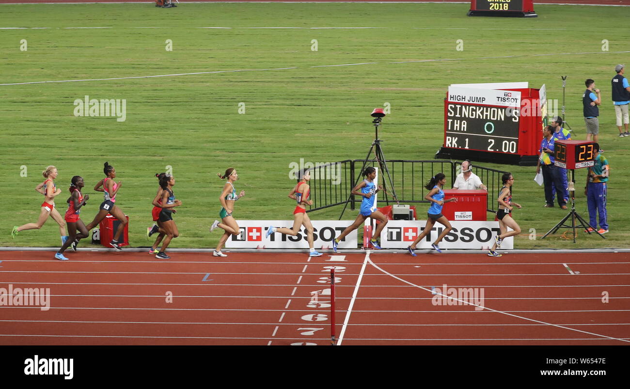
[[(265, 246), (267, 249), (308, 249), (306, 229), (300, 227), (295, 236), (278, 232), (265, 237), (270, 225), (273, 227), (293, 227), (293, 220), (237, 220), (241, 229), (239, 235), (232, 235), (227, 239), (229, 249), (255, 249)], [(333, 239), (340, 235), (354, 220), (311, 220), (313, 225), (313, 244), (316, 249), (326, 246), (333, 247)], [(357, 230), (350, 232), (339, 243), (340, 249), (357, 249)]]

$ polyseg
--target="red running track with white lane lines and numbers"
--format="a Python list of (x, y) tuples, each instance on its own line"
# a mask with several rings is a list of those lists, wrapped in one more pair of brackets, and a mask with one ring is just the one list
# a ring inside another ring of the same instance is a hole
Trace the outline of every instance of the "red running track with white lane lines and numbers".
[[(330, 266), (342, 346), (630, 341), (627, 253), (170, 255), (0, 253), (0, 288), (50, 288), (49, 310), (0, 306), (0, 344), (326, 345)], [(444, 284), (481, 304), (436, 305)]]

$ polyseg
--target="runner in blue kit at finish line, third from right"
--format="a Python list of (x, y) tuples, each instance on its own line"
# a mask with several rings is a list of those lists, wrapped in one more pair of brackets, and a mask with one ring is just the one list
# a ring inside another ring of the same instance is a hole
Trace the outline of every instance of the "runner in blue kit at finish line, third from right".
[(378, 188), (374, 183), (374, 178), (376, 178), (376, 169), (374, 167), (366, 167), (363, 171), (363, 176), (365, 179), (361, 181), (355, 188), (352, 189), (352, 194), (355, 196), (363, 196), (363, 201), (361, 201), (361, 209), (358, 213), (357, 219), (352, 225), (346, 227), (341, 235), (339, 235), (335, 240), (333, 240), (333, 250), (337, 252), (337, 246), (341, 239), (343, 239), (346, 235), (350, 234), (353, 230), (356, 230), (360, 225), (365, 223), (365, 219), (373, 218), (379, 220), (376, 229), (374, 230), (374, 235), (372, 235), (372, 239), (370, 240), (370, 244), (375, 249), (381, 249), (379, 244), (377, 243), (377, 239), (381, 236), (381, 231), (387, 224), (387, 217), (381, 213), (381, 211), (376, 209), (376, 204), (374, 203), (374, 194), (379, 193), (380, 190), (383, 189), (382, 185), (379, 185)]

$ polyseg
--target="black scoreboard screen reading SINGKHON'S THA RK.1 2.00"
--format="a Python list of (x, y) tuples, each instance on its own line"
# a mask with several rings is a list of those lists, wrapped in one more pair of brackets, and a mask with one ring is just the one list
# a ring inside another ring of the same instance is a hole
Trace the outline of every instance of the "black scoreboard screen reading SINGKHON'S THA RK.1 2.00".
[(516, 154), (518, 108), (447, 103), (445, 147)]

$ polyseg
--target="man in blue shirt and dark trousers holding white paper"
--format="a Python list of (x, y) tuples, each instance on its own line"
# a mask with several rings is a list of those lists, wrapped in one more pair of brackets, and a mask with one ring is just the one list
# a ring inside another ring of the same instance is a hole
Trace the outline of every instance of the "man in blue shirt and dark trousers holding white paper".
[(536, 174), (541, 171), (542, 167), (542, 179), (545, 186), (545, 206), (547, 208), (553, 207), (554, 200), (551, 198), (551, 184), (556, 186), (558, 191), (558, 205), (563, 210), (566, 210), (566, 188), (562, 185), (562, 177), (560, 176), (560, 169), (554, 165), (554, 142), (556, 138), (553, 136), (554, 129), (551, 126), (547, 126), (542, 130), (541, 148), (538, 152), (541, 153), (541, 157), (538, 159), (536, 166)]

